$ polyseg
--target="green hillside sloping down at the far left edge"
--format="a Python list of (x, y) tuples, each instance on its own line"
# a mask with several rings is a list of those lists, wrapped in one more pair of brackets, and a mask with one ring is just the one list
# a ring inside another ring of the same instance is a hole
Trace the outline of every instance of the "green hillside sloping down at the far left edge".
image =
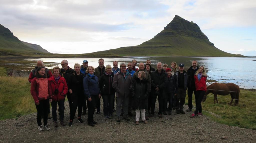
[(0, 24), (0, 55), (41, 55), (51, 54), (41, 46), (20, 41), (13, 33)]

